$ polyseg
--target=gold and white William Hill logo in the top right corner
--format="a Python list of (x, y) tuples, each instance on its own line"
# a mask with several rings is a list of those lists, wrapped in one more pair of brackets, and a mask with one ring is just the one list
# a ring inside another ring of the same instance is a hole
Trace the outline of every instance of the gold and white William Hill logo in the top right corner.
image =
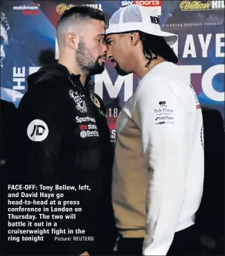
[(206, 11), (224, 9), (224, 1), (182, 1), (179, 3), (182, 11)]

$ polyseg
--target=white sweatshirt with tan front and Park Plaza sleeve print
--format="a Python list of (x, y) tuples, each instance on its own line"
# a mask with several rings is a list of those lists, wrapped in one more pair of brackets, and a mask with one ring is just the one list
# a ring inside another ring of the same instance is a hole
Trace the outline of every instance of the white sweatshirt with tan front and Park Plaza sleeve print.
[(145, 237), (165, 255), (194, 224), (203, 194), (203, 117), (179, 66), (163, 62), (139, 81), (117, 123), (112, 196), (122, 237)]

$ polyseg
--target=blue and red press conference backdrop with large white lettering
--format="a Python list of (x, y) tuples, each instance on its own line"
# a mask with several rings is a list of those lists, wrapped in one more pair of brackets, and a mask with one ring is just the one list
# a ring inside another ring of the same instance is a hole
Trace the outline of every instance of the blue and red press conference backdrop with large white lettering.
[[(26, 92), (26, 78), (43, 64), (56, 62), (56, 23), (73, 5), (113, 12), (138, 4), (154, 9), (162, 29), (177, 33), (172, 46), (179, 66), (196, 89), (199, 102), (219, 109), (224, 119), (224, 1), (3, 1), (1, 6), (1, 98), (18, 106)], [(124, 103), (135, 92), (134, 74), (118, 76), (110, 61), (93, 77), (95, 92), (107, 106), (111, 140)]]

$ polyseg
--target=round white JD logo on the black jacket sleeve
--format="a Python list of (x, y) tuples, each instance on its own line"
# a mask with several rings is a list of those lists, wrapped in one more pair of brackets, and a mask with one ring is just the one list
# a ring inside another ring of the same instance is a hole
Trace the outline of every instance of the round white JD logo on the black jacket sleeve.
[(27, 135), (32, 141), (43, 141), (49, 134), (49, 128), (45, 122), (40, 119), (32, 120), (27, 127)]

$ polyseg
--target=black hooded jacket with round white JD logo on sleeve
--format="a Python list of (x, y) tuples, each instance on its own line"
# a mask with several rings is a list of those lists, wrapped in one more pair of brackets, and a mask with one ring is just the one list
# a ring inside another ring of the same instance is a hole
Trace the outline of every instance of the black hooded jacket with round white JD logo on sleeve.
[[(99, 253), (96, 243), (100, 234), (105, 237), (104, 232), (110, 230), (109, 218), (113, 221), (113, 150), (104, 104), (94, 93), (93, 82), (81, 85), (80, 75), (70, 74), (60, 64), (42, 67), (28, 77), (28, 83), (18, 109), (17, 143), (22, 145), (16, 161), (18, 181), (36, 184), (38, 189), (39, 185), (76, 186), (76, 192), (53, 190), (63, 192), (64, 201), (80, 201), (80, 205), (67, 207), (82, 209), (76, 220), (57, 220), (56, 228), (80, 228), (85, 234), (60, 235), (72, 237), (70, 242), (54, 242), (56, 234), (48, 235), (45, 242), (36, 247), (32, 243), (30, 248), (26, 243), (20, 251), (29, 255)], [(79, 191), (79, 185), (88, 185), (90, 191)], [(73, 241), (78, 236), (94, 237), (94, 241)], [(105, 243), (100, 243), (103, 248)]]

